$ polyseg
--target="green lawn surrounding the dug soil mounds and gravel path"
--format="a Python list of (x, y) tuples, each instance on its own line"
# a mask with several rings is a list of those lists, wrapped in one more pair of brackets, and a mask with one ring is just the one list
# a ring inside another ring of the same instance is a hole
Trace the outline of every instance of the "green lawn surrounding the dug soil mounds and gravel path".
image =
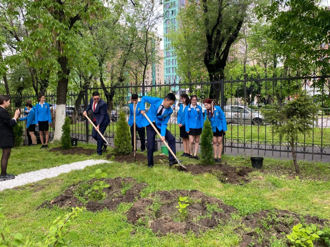
[[(95, 145), (81, 145), (96, 148)], [(76, 155), (65, 156), (48, 151), (22, 147), (13, 149), (10, 158), (9, 171), (18, 173), (38, 170), (50, 166), (71, 163), (78, 160), (96, 158)], [(32, 147), (33, 148), (33, 147)], [(27, 150), (27, 151), (25, 151)], [(33, 153), (33, 155), (31, 155)], [(13, 162), (24, 160), (27, 156), (29, 166)], [(32, 158), (30, 156), (38, 156)], [(104, 158), (104, 157), (103, 157)], [(184, 164), (196, 163), (195, 160), (183, 158)], [(242, 156), (223, 155), (223, 161), (230, 165), (248, 165), (250, 161)], [(42, 162), (42, 163), (39, 163)], [(156, 163), (149, 169), (146, 163), (127, 164), (112, 162), (86, 167), (83, 170), (61, 174), (33, 184), (27, 184), (15, 189), (0, 192), (0, 202), (3, 213), (9, 221), (12, 232), (22, 233), (30, 239), (37, 240), (48, 229), (53, 219), (65, 215), (70, 209), (37, 209), (45, 200), (52, 200), (60, 195), (69, 185), (90, 179), (97, 168), (106, 172), (109, 177), (132, 177), (149, 186), (141, 193), (146, 197), (158, 190), (197, 189), (209, 196), (215, 196), (228, 205), (238, 209), (239, 215), (247, 215), (261, 209), (288, 209), (303, 215), (316, 215), (330, 219), (330, 166), (329, 163), (299, 162), (301, 176), (292, 174), (292, 161), (265, 158), (264, 167), (267, 173), (259, 171), (250, 175), (251, 182), (244, 185), (222, 184), (215, 176), (203, 174), (193, 176), (189, 173), (170, 169), (167, 162)], [(281, 171), (281, 172), (279, 172)], [(317, 179), (316, 179), (317, 178)], [(0, 183), (1, 185), (1, 183)], [(148, 227), (132, 225), (126, 221), (125, 212), (131, 204), (119, 205), (116, 211), (83, 212), (74, 219), (74, 230), (80, 235), (74, 240), (73, 246), (237, 246), (240, 236), (234, 229), (238, 222), (228, 221), (216, 229), (202, 233), (199, 237), (194, 234), (170, 234), (157, 237)], [(233, 215), (233, 218), (237, 216)], [(131, 234), (132, 231), (135, 234)], [(6, 235), (8, 237), (8, 234)]]

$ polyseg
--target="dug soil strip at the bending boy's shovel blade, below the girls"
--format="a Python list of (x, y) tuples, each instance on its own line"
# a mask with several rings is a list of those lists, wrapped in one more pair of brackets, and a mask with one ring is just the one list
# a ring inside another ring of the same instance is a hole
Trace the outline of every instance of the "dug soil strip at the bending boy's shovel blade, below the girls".
[[(248, 174), (255, 169), (251, 167), (233, 167), (226, 163), (215, 164), (209, 166), (201, 165), (185, 165), (187, 167), (186, 172), (191, 172), (193, 175), (202, 173), (211, 173), (215, 175), (223, 183), (233, 183), (233, 184), (243, 184), (248, 182)], [(183, 171), (180, 166), (178, 166), (180, 171)]]

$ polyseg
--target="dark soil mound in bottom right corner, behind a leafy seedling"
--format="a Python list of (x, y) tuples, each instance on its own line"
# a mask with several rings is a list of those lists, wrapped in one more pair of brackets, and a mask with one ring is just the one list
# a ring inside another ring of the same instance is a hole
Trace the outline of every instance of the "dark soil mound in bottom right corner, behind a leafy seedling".
[[(278, 239), (286, 239), (286, 234), (289, 234), (294, 225), (305, 221), (306, 224), (318, 224), (324, 226), (328, 220), (319, 219), (316, 216), (302, 216), (288, 210), (261, 210), (260, 212), (242, 217), (242, 224), (250, 231), (239, 229), (243, 240), (240, 247), (246, 246), (270, 246), (269, 239), (276, 237)], [(322, 240), (317, 241), (314, 246), (327, 246)]]

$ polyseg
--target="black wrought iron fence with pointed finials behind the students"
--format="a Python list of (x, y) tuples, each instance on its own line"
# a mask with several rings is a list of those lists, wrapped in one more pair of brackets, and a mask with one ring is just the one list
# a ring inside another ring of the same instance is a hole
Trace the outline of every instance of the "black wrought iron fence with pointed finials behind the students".
[[(324, 95), (329, 96), (330, 76), (295, 76), (295, 77), (265, 77), (265, 78), (237, 78), (219, 81), (195, 80), (190, 82), (164, 83), (160, 85), (120, 85), (116, 87), (87, 88), (79, 93), (69, 92), (66, 115), (72, 119), (71, 135), (81, 142), (91, 140), (91, 125), (82, 118), (83, 109), (89, 103), (92, 92), (98, 91), (102, 99), (108, 103), (108, 112), (111, 123), (105, 131), (106, 138), (113, 138), (116, 134), (116, 121), (119, 111), (129, 115), (128, 104), (131, 94), (164, 98), (169, 92), (177, 96), (173, 105), (174, 112), (169, 120), (168, 129), (181, 143), (180, 131), (177, 125), (177, 113), (180, 106), (180, 95), (187, 93), (197, 95), (198, 102), (211, 97), (221, 105), (228, 123), (228, 131), (224, 138), (224, 151), (230, 153), (253, 152), (258, 155), (289, 157), (291, 147), (288, 139), (272, 134), (271, 126), (262, 116), (260, 109), (271, 109), (273, 104), (284, 105), (297, 95), (300, 89), (306, 90), (314, 97), (315, 104), (323, 110), (315, 118), (313, 130), (310, 134), (300, 135), (296, 140), (296, 152), (300, 158), (312, 160), (327, 160), (330, 158), (330, 107), (324, 101)], [(322, 82), (322, 87), (315, 87)], [(145, 92), (142, 92), (142, 88)], [(323, 95), (323, 97), (322, 97)], [(35, 95), (14, 96), (12, 102), (16, 107), (23, 107), (28, 98), (37, 103)], [(56, 95), (47, 94), (46, 101), (56, 109)], [(148, 106), (147, 106), (148, 108)], [(56, 120), (55, 120), (56, 121)], [(50, 137), (53, 129), (50, 130)], [(325, 158), (326, 157), (326, 158)]]

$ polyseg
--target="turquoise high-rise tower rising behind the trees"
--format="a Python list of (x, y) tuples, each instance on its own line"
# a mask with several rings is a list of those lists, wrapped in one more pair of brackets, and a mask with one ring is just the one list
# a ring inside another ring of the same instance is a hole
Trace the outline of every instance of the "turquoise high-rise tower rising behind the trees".
[(164, 81), (165, 83), (178, 82), (179, 76), (176, 73), (178, 67), (177, 57), (171, 41), (166, 37), (170, 31), (178, 29), (177, 14), (180, 9), (188, 4), (188, 0), (168, 0), (164, 1)]

